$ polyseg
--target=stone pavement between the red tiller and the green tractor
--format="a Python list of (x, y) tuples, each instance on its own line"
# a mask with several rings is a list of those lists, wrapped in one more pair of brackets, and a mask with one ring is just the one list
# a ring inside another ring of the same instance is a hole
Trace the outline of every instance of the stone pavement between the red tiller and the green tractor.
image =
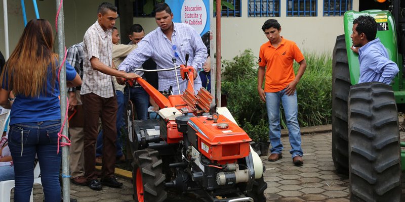
[(338, 175), (332, 161), (331, 133), (302, 135), (304, 165), (292, 163), (288, 137), (282, 137), (283, 158), (266, 165), (267, 201), (349, 201), (349, 180)]

